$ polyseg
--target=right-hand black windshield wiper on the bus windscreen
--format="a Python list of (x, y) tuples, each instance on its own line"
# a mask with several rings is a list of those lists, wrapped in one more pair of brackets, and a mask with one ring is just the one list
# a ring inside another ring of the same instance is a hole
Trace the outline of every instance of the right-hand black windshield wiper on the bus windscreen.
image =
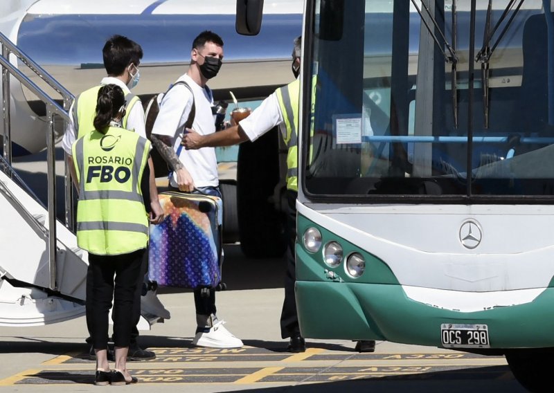
[(510, 0), (510, 2), (508, 3), (508, 6), (506, 6), (506, 9), (504, 10), (504, 12), (502, 12), (502, 15), (499, 21), (497, 22), (496, 25), (494, 25), (494, 28), (492, 28), (492, 30), (490, 29), (490, 19), (492, 15), (492, 0), (489, 0), (489, 6), (487, 8), (487, 22), (485, 23), (485, 32), (483, 33), (483, 47), (475, 57), (476, 62), (481, 62), (481, 79), (483, 84), (483, 114), (485, 118), (485, 128), (489, 127), (490, 57), (492, 57), (492, 53), (494, 53), (494, 50), (497, 48), (501, 39), (504, 37), (504, 35), (506, 35), (508, 28), (510, 28), (512, 21), (514, 20), (515, 16), (517, 15), (517, 12), (519, 11), (519, 8), (521, 8), (521, 5), (524, 3), (524, 1), (525, 0), (519, 0), (519, 3), (517, 4), (517, 7), (515, 8), (515, 10), (512, 12), (510, 19), (508, 19), (508, 21), (506, 22), (506, 26), (504, 26), (499, 37), (497, 38), (497, 41), (494, 42), (491, 48), (490, 43), (492, 41), (492, 37), (494, 37), (494, 34), (497, 33), (498, 28), (503, 23), (504, 19), (506, 19), (506, 17), (508, 16), (508, 12), (510, 12), (510, 10), (512, 10), (512, 8), (514, 7), (516, 0)]

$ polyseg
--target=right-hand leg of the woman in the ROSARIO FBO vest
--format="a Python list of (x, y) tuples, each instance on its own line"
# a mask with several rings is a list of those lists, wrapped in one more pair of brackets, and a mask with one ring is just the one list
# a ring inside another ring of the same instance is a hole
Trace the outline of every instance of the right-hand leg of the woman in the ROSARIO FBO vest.
[(116, 349), (116, 370), (125, 376), (127, 372), (127, 351), (131, 341), (131, 330), (134, 324), (134, 302), (139, 302), (140, 293), (136, 291), (141, 275), (141, 265), (145, 248), (133, 253), (118, 255), (114, 266), (116, 268), (114, 288), (114, 309), (111, 319), (114, 320), (114, 347)]

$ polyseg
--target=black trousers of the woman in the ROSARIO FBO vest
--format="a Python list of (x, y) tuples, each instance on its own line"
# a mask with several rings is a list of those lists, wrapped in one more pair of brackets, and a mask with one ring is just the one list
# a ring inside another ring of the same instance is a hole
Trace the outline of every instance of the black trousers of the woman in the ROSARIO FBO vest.
[(96, 349), (107, 347), (109, 309), (114, 307), (114, 345), (128, 347), (131, 331), (136, 327), (136, 308), (140, 295), (136, 287), (141, 282), (141, 267), (146, 249), (123, 255), (89, 254), (87, 270), (87, 327)]

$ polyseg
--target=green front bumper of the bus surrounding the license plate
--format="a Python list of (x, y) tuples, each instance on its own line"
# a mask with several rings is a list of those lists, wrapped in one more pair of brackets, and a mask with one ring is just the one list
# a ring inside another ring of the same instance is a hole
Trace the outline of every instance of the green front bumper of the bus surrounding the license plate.
[(305, 338), (443, 347), (441, 325), (481, 324), (492, 349), (554, 347), (554, 288), (524, 304), (461, 312), (412, 300), (397, 284), (297, 281), (296, 304)]

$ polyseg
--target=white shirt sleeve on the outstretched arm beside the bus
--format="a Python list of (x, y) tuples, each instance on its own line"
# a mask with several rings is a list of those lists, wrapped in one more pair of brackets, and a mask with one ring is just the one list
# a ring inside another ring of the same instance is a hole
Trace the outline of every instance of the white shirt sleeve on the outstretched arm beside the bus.
[(277, 100), (277, 93), (271, 93), (247, 118), (240, 120), (239, 124), (252, 141), (260, 138), (276, 125), (279, 125), (281, 134), (286, 135), (287, 129)]

